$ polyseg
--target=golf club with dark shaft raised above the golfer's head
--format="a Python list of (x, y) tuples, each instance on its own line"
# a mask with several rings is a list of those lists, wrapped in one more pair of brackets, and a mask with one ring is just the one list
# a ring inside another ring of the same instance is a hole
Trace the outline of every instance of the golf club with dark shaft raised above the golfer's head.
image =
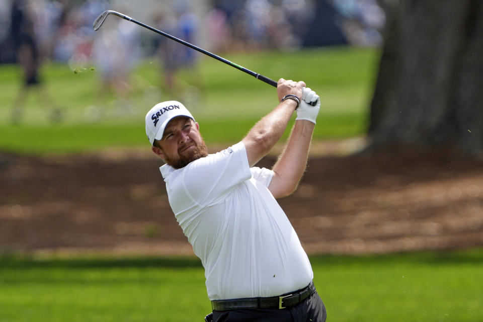
[[(237, 69), (239, 69), (241, 71), (244, 71), (247, 74), (250, 74), (250, 75), (254, 76), (257, 79), (260, 79), (260, 81), (263, 81), (263, 82), (265, 82), (267, 84), (272, 85), (273, 87), (277, 87), (277, 82), (275, 82), (273, 79), (270, 79), (270, 78), (268, 78), (268, 77), (266, 77), (264, 75), (261, 75), (259, 73), (256, 73), (255, 71), (252, 71), (250, 69), (247, 69), (247, 68), (245, 68), (243, 66), (240, 66), (238, 64), (235, 64), (234, 62), (231, 62), (228, 59), (225, 59), (223, 57), (220, 57), (218, 55), (215, 55), (215, 54), (213, 54), (213, 53), (211, 53), (211, 52), (209, 52), (207, 50), (204, 50), (204, 49), (202, 49), (200, 47), (197, 47), (197, 46), (195, 46), (193, 44), (190, 44), (189, 42), (186, 42), (186, 41), (184, 41), (182, 39), (176, 38), (176, 37), (174, 37), (174, 36), (172, 36), (170, 34), (167, 34), (167, 33), (163, 32), (163, 31), (157, 30), (157, 29), (155, 29), (153, 27), (150, 27), (150, 26), (148, 26), (146, 24), (143, 24), (143, 23), (141, 23), (139, 21), (134, 20), (134, 19), (132, 19), (129, 16), (126, 16), (124, 14), (118, 13), (118, 12), (113, 11), (113, 10), (106, 10), (105, 12), (103, 12), (102, 14), (100, 14), (99, 17), (97, 17), (97, 19), (94, 21), (94, 24), (93, 24), (93, 28), (94, 28), (95, 31), (97, 31), (99, 28), (101, 28), (102, 24), (104, 23), (104, 21), (106, 20), (107, 16), (109, 16), (109, 15), (115, 15), (115, 16), (118, 16), (118, 17), (120, 17), (122, 19), (125, 19), (127, 21), (131, 21), (131, 22), (133, 22), (135, 24), (138, 24), (139, 26), (142, 26), (144, 28), (147, 28), (147, 29), (149, 29), (151, 31), (154, 31), (155, 33), (158, 33), (160, 35), (163, 35), (165, 37), (168, 37), (168, 38), (170, 38), (170, 39), (172, 39), (174, 41), (177, 41), (177, 42), (179, 42), (179, 43), (181, 43), (181, 44), (183, 44), (185, 46), (188, 46), (190, 48), (193, 48), (194, 50), (197, 50), (197, 51), (199, 51), (199, 52), (201, 52), (201, 53), (203, 53), (205, 55), (208, 55), (210, 57), (213, 57), (215, 59), (218, 59), (219, 61), (222, 61), (225, 64), (228, 64), (230, 66), (233, 66), (233, 67), (235, 67), (235, 68), (237, 68)], [(312, 103), (312, 105), (315, 105), (315, 104), (316, 104), (316, 102)]]

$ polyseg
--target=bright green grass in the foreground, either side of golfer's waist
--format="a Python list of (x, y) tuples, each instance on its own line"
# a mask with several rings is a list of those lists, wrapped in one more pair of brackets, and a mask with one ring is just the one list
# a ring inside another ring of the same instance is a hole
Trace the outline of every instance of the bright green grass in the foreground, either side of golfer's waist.
[[(330, 321), (478, 321), (483, 249), (311, 256)], [(201, 321), (195, 258), (0, 257), (0, 321)]]

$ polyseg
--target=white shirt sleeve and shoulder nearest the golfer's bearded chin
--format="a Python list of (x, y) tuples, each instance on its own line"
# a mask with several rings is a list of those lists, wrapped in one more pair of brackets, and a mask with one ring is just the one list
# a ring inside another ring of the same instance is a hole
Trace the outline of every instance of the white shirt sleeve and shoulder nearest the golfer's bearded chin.
[(219, 202), (236, 185), (252, 177), (243, 142), (199, 158), (188, 167), (183, 178), (185, 187), (201, 206)]

